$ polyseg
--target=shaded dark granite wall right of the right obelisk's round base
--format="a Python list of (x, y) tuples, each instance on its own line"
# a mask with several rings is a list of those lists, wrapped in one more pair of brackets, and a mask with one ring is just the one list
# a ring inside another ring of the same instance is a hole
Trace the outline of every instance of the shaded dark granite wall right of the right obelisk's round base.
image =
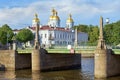
[(112, 50), (107, 54), (107, 75), (108, 77), (120, 75), (120, 55), (114, 54)]

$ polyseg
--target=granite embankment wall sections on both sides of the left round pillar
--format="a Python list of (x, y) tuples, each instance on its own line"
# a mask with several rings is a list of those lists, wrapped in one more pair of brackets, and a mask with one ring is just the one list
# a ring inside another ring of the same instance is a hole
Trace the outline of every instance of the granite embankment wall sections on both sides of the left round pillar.
[[(31, 67), (31, 54), (18, 54), (14, 50), (0, 50), (0, 63), (6, 70)], [(81, 54), (40, 54), (41, 70), (58, 70), (81, 67)]]

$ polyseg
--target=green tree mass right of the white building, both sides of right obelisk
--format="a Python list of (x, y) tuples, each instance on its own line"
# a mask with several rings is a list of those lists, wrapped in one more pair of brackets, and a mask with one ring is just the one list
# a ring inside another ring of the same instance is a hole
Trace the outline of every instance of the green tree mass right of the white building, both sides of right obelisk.
[[(93, 25), (76, 25), (78, 32), (88, 33), (88, 43), (97, 44), (99, 27)], [(120, 21), (104, 25), (104, 39), (107, 45), (120, 44)]]

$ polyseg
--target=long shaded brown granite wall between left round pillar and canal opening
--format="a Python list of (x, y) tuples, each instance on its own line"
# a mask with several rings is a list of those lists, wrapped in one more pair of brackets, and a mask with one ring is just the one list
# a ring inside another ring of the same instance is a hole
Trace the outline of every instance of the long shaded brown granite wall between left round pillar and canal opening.
[(81, 54), (41, 54), (42, 70), (81, 68)]

